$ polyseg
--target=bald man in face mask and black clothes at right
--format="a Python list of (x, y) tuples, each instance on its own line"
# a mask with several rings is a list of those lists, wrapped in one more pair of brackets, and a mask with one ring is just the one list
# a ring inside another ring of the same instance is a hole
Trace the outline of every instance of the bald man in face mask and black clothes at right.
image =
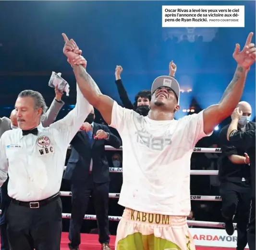
[[(255, 123), (250, 122), (252, 108), (248, 102), (239, 102), (238, 107), (243, 112), (238, 129), (245, 132), (255, 129)], [(250, 214), (250, 167), (249, 159), (244, 155), (244, 148), (235, 147), (227, 140), (229, 125), (219, 133), (222, 155), (219, 160), (220, 196), (222, 199), (221, 213), (225, 220), (228, 235), (234, 233), (233, 217), (237, 220), (237, 250), (244, 250), (247, 244), (247, 223)]]

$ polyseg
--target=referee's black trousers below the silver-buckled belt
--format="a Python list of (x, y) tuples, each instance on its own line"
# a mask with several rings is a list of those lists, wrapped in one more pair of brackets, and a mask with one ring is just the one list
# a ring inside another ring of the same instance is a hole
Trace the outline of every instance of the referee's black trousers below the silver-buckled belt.
[(60, 250), (61, 198), (39, 208), (11, 202), (7, 210), (7, 234), (12, 250)]

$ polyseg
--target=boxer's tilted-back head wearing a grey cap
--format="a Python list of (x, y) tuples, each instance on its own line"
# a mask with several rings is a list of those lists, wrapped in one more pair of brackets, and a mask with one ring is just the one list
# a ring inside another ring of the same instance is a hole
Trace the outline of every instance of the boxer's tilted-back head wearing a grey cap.
[(160, 76), (154, 80), (151, 92), (150, 112), (166, 113), (169, 114), (170, 119), (173, 119), (174, 113), (180, 110), (178, 81), (173, 77)]

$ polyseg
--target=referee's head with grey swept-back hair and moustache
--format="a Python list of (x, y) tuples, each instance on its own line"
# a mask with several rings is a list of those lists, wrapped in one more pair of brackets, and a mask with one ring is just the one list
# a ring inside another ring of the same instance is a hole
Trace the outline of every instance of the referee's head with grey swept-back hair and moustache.
[(23, 130), (30, 130), (40, 124), (41, 117), (47, 111), (47, 106), (39, 92), (24, 90), (18, 95), (15, 110), (19, 127)]

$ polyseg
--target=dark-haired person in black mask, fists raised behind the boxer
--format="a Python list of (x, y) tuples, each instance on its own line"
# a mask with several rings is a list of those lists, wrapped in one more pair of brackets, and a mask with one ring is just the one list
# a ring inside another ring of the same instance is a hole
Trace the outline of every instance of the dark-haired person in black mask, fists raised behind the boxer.
[[(169, 64), (169, 75), (174, 77), (177, 67), (173, 61)], [(117, 90), (122, 104), (127, 109), (132, 109), (137, 113), (146, 116), (149, 111), (149, 103), (151, 101), (151, 91), (139, 91), (135, 96), (134, 104), (130, 101), (127, 91), (125, 90), (121, 80), (122, 66), (116, 66), (115, 77)]]

